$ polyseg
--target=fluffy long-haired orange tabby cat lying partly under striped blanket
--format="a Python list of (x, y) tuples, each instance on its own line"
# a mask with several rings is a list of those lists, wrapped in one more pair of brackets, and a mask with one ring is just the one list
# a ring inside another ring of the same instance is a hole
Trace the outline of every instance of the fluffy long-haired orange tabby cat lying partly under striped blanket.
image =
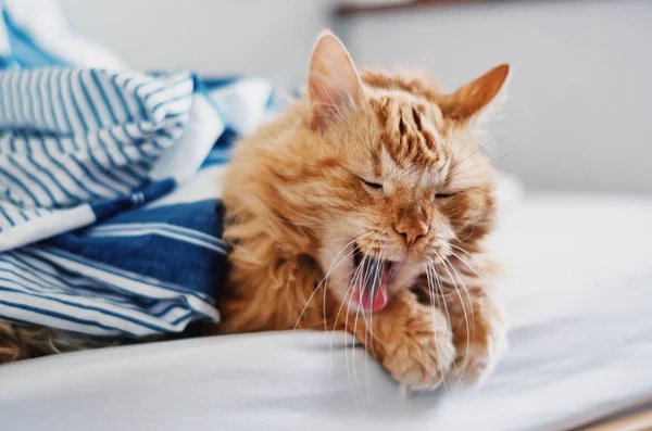
[[(505, 331), (482, 246), (493, 173), (476, 140), (507, 72), (446, 94), (421, 75), (359, 74), (324, 33), (306, 97), (242, 140), (224, 179), (221, 331), (347, 330), (414, 389), (486, 376)], [(86, 345), (0, 322), (0, 363)]]

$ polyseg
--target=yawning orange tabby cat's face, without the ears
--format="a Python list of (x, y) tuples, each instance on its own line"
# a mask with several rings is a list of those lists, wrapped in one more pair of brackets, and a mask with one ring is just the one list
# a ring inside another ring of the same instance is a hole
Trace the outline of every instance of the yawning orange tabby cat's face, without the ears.
[(324, 168), (312, 187), (330, 201), (314, 200), (324, 215), (318, 259), (330, 271), (328, 289), (352, 300), (353, 309), (381, 309), (434, 271), (428, 264), (466, 257), (465, 244), (490, 228), (491, 169), (474, 153), (472, 136), (447, 127), (437, 106), (380, 92), (352, 121), (322, 134), (315, 166)]

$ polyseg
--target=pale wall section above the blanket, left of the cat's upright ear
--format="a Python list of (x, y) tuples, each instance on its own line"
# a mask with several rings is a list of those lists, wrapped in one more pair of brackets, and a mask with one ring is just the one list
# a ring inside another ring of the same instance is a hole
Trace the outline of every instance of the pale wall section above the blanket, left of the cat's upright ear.
[(293, 79), (308, 69), (329, 0), (60, 0), (71, 23), (143, 69)]

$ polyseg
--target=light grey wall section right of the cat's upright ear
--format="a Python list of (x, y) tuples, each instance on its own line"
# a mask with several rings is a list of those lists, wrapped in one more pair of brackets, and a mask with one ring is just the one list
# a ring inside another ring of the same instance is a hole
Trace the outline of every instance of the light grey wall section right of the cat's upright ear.
[(498, 162), (527, 187), (652, 192), (652, 1), (532, 1), (361, 15), (354, 60), (454, 89), (513, 65)]

